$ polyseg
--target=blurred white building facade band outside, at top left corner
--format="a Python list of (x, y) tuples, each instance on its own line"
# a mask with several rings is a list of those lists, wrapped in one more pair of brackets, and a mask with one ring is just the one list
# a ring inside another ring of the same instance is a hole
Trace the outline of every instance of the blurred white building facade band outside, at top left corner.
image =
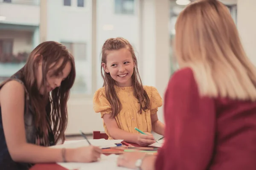
[(0, 3), (0, 16), (6, 20), (0, 23), (38, 26), (40, 21), (40, 6), (20, 3)]

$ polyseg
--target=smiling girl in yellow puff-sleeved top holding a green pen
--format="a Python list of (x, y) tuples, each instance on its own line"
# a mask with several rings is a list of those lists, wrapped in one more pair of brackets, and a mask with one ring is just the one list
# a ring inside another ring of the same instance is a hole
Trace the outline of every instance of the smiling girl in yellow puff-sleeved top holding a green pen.
[[(157, 89), (143, 86), (132, 45), (124, 38), (110, 38), (102, 46), (103, 88), (96, 91), (93, 102), (101, 113), (109, 139), (147, 146), (155, 142), (151, 130), (163, 135), (164, 125), (157, 109), (162, 99)], [(145, 132), (140, 134), (134, 128)]]

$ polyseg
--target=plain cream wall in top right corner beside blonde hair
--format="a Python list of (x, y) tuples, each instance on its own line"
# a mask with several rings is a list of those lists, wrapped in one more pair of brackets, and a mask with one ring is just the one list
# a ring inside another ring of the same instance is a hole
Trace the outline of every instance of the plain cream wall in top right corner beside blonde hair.
[(237, 27), (247, 56), (256, 65), (256, 0), (237, 1)]

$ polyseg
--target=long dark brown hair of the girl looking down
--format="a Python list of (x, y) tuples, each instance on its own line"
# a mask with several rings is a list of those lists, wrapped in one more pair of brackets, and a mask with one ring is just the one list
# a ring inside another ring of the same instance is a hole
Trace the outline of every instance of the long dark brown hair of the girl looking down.
[[(63, 59), (62, 64), (54, 70), (54, 74), (60, 74), (68, 62), (71, 64), (70, 74), (61, 82), (59, 87), (51, 91), (50, 94), (42, 96), (38, 90), (36, 79), (38, 63), (42, 61), (42, 85), (44, 85), (46, 91), (46, 76), (50, 65), (54, 64), (55, 66), (61, 59)], [(59, 139), (64, 141), (64, 131), (67, 127), (67, 100), (70, 95), (70, 88), (73, 86), (76, 77), (75, 62), (72, 54), (67, 51), (64, 45), (58, 42), (43, 42), (30, 53), (23, 68), (23, 76), (30, 102), (35, 110), (35, 127), (38, 133), (43, 135), (44, 142), (47, 142), (48, 130), (49, 126), (51, 126), (55, 143)], [(51, 105), (50, 117), (46, 113), (48, 102)]]

